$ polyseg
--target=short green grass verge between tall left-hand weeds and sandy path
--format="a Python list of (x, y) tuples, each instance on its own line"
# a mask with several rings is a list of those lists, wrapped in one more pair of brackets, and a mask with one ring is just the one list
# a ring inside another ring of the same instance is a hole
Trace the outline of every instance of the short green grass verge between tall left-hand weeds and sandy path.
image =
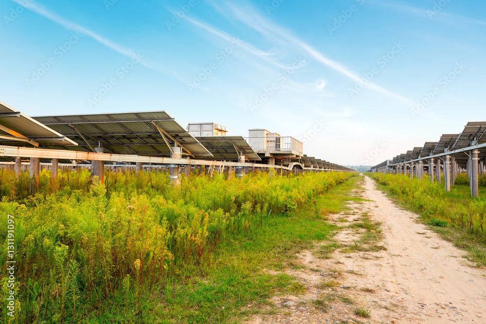
[[(350, 178), (331, 189), (317, 198), (317, 207), (325, 207), (326, 201), (332, 197), (331, 200), (341, 204), (335, 205), (333, 211), (342, 211), (346, 207), (344, 203), (349, 199), (349, 191), (356, 187), (359, 180), (356, 177)], [(199, 289), (192, 286), (190, 294), (189, 287), (181, 287), (179, 298), (172, 300), (172, 308), (166, 308), (164, 315), (174, 320), (177, 314), (177, 320), (166, 323), (186, 323), (182, 320), (191, 320), (196, 314), (197, 318), (187, 323), (241, 323), (242, 318), (251, 315), (240, 310), (247, 303), (252, 303), (255, 305), (252, 308), (258, 309), (257, 306), (266, 305), (272, 295), (304, 293), (305, 287), (295, 282), (294, 278), (283, 274), (269, 275), (263, 269), (280, 271), (291, 267), (296, 261), (296, 253), (311, 248), (316, 242), (330, 239), (336, 227), (327, 223), (325, 217), (326, 214), (316, 217), (315, 213), (308, 211), (298, 212), (292, 217), (272, 217), (268, 224), (255, 232), (251, 240), (242, 237), (228, 244), (219, 255), (221, 261), (208, 274), (212, 284), (208, 286), (199, 282)], [(234, 274), (240, 274), (237, 285), (240, 292), (237, 294), (233, 291), (236, 288), (231, 288), (235, 283), (226, 279), (227, 276), (234, 277)], [(324, 284), (326, 287), (336, 285), (339, 283), (335, 281)], [(214, 291), (214, 287), (218, 287), (218, 291)], [(201, 290), (211, 293), (207, 304), (200, 302)], [(322, 304), (321, 309), (327, 307)]]

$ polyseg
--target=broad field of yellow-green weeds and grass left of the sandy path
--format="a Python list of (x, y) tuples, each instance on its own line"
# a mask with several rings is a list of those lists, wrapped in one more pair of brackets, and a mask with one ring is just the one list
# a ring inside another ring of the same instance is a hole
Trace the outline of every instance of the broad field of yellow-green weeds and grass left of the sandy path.
[[(243, 179), (167, 173), (66, 172), (28, 194), (0, 171), (0, 240), (16, 219), (16, 317), (2, 323), (240, 323), (270, 296), (298, 291), (295, 253), (329, 239), (358, 177)], [(1, 264), (7, 256), (0, 255)], [(0, 298), (8, 295), (1, 267)], [(251, 305), (251, 307), (247, 307)]]

